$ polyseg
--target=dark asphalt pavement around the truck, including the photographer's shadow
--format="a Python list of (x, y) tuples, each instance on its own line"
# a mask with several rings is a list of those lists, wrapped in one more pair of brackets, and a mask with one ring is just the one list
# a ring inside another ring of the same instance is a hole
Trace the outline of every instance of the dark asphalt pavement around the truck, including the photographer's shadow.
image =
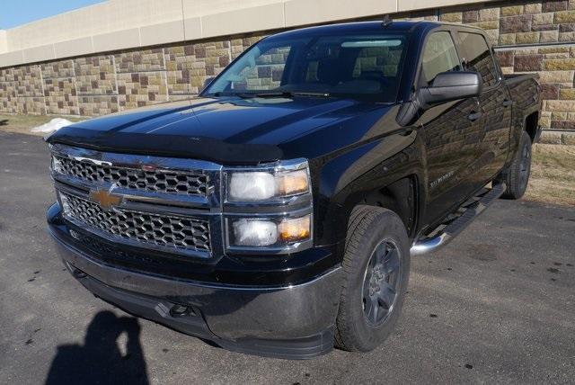
[(0, 383), (575, 382), (575, 209), (498, 201), (412, 262), (400, 326), (370, 354), (226, 352), (96, 300), (45, 233), (39, 138), (0, 133)]

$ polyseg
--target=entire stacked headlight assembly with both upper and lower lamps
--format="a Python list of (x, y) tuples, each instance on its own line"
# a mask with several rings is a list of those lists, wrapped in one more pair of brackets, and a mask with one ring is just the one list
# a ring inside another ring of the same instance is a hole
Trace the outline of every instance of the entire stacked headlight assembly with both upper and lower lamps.
[(313, 244), (307, 160), (224, 170), (226, 247), (232, 253), (288, 254)]

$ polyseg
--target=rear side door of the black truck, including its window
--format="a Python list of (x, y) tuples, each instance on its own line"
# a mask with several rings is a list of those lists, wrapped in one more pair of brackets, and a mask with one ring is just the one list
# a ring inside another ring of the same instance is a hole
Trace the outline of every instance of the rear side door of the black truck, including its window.
[(464, 70), (478, 72), (483, 80), (479, 100), (482, 110), (481, 156), (473, 165), (474, 184), (481, 187), (499, 173), (507, 159), (511, 99), (484, 36), (473, 31), (457, 31), (456, 34)]

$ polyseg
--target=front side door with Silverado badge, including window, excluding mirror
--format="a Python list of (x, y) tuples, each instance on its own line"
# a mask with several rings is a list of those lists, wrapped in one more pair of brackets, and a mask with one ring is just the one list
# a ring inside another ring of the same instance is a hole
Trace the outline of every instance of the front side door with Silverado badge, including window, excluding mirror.
[[(462, 70), (451, 31), (433, 31), (424, 44), (419, 87), (431, 85), (442, 72)], [(443, 219), (473, 193), (470, 167), (480, 156), (481, 115), (479, 99), (468, 98), (435, 105), (418, 122), (427, 152), (429, 223)]]

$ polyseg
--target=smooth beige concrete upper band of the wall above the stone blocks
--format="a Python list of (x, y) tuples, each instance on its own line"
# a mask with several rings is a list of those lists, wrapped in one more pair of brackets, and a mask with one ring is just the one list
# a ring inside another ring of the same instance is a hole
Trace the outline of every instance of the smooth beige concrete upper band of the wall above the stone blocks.
[(461, 3), (477, 1), (109, 0), (7, 30), (0, 67)]

